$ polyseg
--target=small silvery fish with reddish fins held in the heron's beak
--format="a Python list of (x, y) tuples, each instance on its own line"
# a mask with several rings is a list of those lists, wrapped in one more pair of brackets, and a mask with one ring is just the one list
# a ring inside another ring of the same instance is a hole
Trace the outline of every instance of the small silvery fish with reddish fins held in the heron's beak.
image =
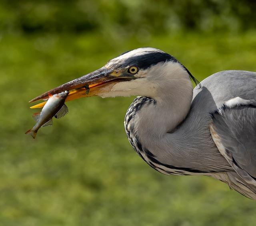
[(60, 92), (58, 94), (48, 94), (48, 100), (40, 113), (35, 113), (32, 118), (36, 120), (36, 124), (25, 134), (31, 135), (34, 139), (41, 127), (52, 126), (52, 118), (61, 118), (68, 113), (68, 107), (65, 104), (65, 100), (69, 94), (69, 91)]

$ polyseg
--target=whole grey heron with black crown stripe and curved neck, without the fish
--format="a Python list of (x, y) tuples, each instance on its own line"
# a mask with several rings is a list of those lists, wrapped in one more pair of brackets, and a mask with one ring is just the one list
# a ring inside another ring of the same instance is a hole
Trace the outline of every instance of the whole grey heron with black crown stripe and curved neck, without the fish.
[(138, 96), (124, 126), (148, 165), (166, 175), (214, 177), (256, 199), (256, 73), (221, 71), (194, 90), (191, 79), (197, 83), (176, 58), (145, 47), (48, 92), (70, 90), (67, 101)]

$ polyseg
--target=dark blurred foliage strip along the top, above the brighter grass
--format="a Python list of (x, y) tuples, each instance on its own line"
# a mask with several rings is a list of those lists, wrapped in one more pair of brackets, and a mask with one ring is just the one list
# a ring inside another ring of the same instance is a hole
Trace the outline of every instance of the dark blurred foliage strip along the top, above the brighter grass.
[(170, 33), (256, 28), (252, 0), (1, 0), (1, 32)]

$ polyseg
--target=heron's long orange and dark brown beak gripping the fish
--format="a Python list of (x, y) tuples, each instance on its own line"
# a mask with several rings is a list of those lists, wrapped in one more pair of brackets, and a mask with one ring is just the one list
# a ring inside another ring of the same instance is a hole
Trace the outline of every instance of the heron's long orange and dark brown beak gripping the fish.
[[(47, 100), (48, 93), (54, 95), (65, 90), (70, 91), (68, 97), (66, 98), (66, 102), (82, 97), (97, 96), (102, 92), (108, 92), (108, 90), (110, 90), (111, 87), (120, 80), (124, 81), (131, 79), (132, 77), (124, 76), (122, 71), (115, 71), (112, 69), (107, 69), (106, 67), (102, 67), (78, 79), (74, 79), (68, 83), (53, 88), (52, 90), (48, 90), (40, 96), (30, 100), (30, 102), (41, 99)], [(30, 108), (42, 108), (45, 103), (46, 101), (40, 104), (36, 104)]]

